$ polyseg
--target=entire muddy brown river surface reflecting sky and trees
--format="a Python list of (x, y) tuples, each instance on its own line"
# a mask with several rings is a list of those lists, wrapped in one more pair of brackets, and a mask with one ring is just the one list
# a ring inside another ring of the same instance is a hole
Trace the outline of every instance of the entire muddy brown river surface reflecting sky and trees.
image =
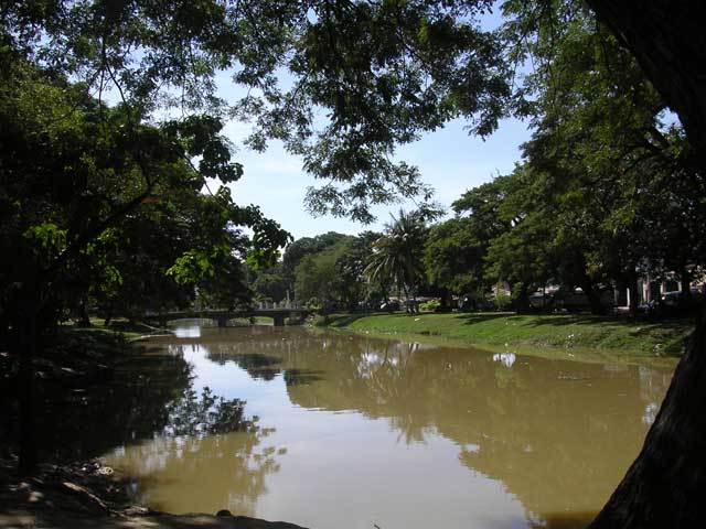
[[(176, 334), (151, 339), (146, 357), (183, 360), (188, 376), (176, 369), (170, 386), (169, 369), (140, 375), (162, 390), (132, 407), (151, 399), (159, 417), (105, 462), (160, 510), (225, 508), (311, 528), (585, 527), (672, 376), (303, 328)], [(206, 417), (204, 387), (240, 399), (236, 419), (254, 422), (204, 429), (234, 420)], [(185, 424), (194, 410), (201, 420)]]

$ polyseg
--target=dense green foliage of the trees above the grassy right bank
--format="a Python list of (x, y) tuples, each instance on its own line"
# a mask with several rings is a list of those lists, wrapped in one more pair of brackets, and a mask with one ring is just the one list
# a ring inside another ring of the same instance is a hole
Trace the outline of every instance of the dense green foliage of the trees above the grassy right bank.
[(548, 283), (580, 287), (600, 312), (601, 289), (639, 272), (691, 277), (706, 262), (706, 181), (637, 62), (579, 2), (503, 9), (512, 53), (536, 64), (518, 101), (534, 134), (512, 174), (467, 192), (459, 218), (432, 229), (429, 281), (457, 293), (507, 281), (518, 309)]

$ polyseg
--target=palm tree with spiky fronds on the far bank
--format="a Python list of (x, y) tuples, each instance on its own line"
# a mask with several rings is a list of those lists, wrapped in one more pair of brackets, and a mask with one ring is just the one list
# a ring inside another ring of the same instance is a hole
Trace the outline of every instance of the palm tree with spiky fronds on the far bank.
[[(424, 276), (421, 252), (427, 226), (418, 212), (392, 216), (384, 235), (373, 244), (373, 255), (365, 269), (371, 283), (395, 284), (405, 293), (407, 312), (414, 312), (416, 290)], [(413, 302), (410, 303), (410, 299)]]

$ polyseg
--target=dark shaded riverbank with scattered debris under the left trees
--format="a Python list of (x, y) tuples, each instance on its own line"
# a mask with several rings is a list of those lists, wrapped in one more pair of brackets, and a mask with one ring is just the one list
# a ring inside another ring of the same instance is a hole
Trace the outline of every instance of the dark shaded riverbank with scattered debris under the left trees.
[[(65, 388), (78, 396), (87, 395), (86, 388), (108, 388), (114, 371), (136, 357), (133, 342), (153, 333), (163, 331), (120, 322), (110, 327), (62, 326), (35, 359), (39, 385), (44, 389)], [(7, 353), (0, 355), (0, 369), (7, 382), (0, 395), (0, 527), (301, 529), (227, 511), (221, 516), (170, 515), (136, 506), (127, 494), (129, 476), (118, 476), (96, 461), (71, 462), (53, 452), (42, 454), (43, 464), (32, 477), (19, 478), (18, 410), (13, 404), (17, 364)], [(85, 428), (83, 435), (95, 434), (92, 424)]]

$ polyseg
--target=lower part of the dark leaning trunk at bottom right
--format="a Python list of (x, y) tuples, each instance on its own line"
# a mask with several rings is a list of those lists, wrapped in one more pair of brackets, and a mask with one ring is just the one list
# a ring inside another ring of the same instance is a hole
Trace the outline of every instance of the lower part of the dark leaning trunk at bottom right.
[(642, 452), (590, 528), (706, 527), (705, 346), (702, 316)]

